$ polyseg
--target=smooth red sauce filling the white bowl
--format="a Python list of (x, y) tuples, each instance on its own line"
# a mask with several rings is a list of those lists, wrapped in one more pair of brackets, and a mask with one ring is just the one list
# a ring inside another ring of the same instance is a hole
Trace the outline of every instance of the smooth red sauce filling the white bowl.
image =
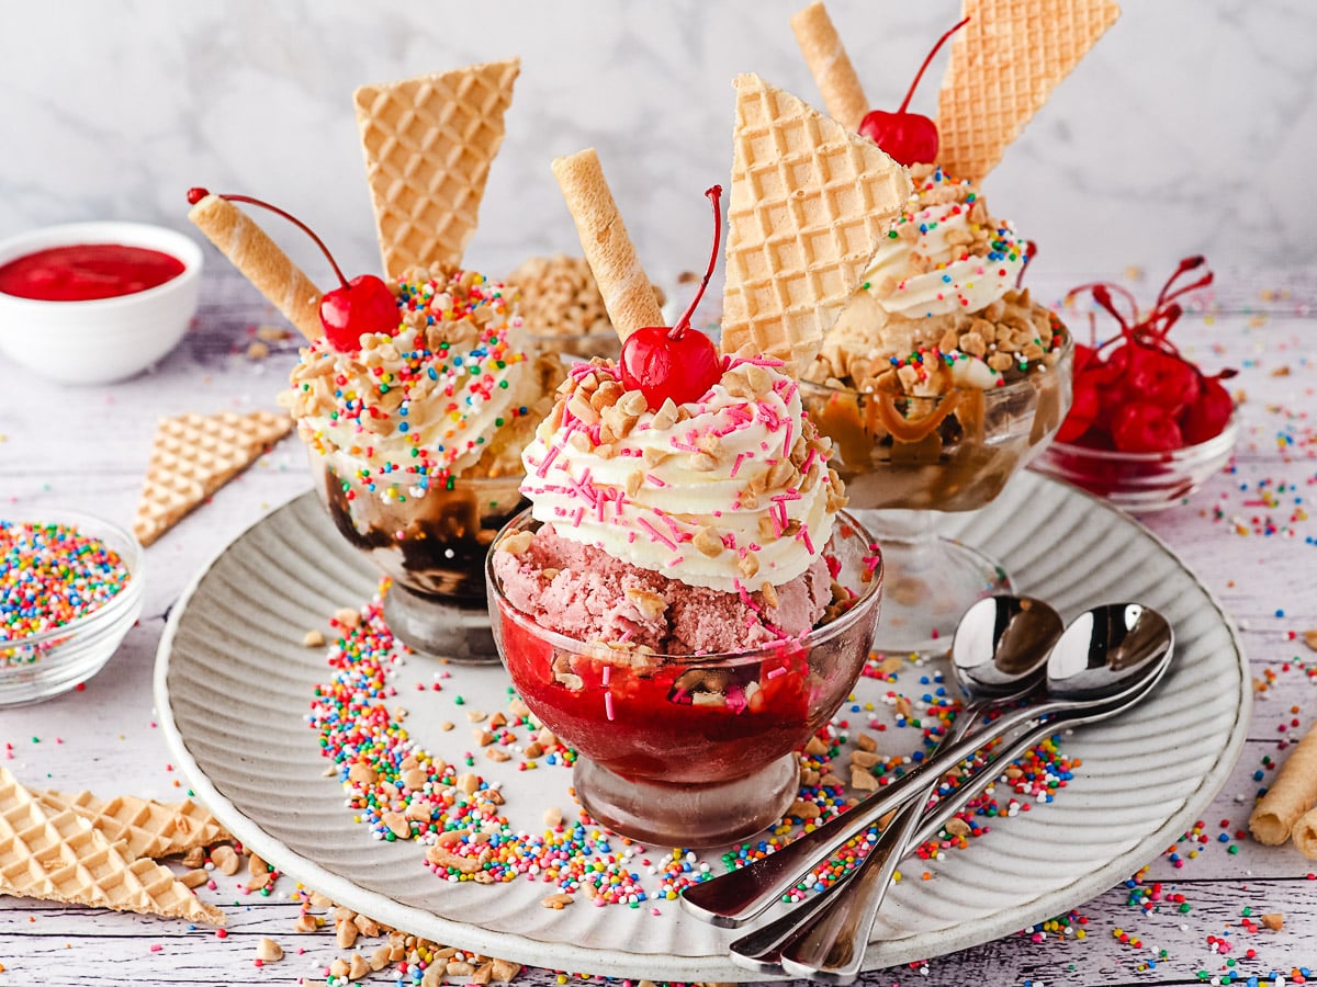
[(75, 243), (0, 265), (0, 292), (38, 301), (91, 301), (155, 288), (183, 272), (173, 254), (124, 243)]

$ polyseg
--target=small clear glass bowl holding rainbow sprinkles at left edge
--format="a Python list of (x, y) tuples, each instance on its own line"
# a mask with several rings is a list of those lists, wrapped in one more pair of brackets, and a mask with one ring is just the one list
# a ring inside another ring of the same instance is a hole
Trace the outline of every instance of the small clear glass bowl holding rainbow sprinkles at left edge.
[(74, 528), (115, 551), (129, 572), (126, 584), (92, 612), (50, 630), (0, 640), (0, 705), (24, 705), (67, 692), (113, 657), (142, 612), (142, 546), (119, 525), (76, 511), (5, 512), (4, 520)]

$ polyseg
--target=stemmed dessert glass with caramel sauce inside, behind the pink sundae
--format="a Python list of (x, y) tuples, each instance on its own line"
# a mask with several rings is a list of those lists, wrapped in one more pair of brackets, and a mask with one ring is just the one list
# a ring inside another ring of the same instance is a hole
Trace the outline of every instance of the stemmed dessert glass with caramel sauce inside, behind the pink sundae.
[(940, 395), (859, 391), (838, 380), (801, 382), (801, 400), (832, 440), (830, 465), (846, 483), (886, 567), (886, 600), (874, 646), (940, 651), (977, 599), (1010, 590), (994, 559), (935, 533), (936, 512), (976, 511), (1056, 434), (1071, 405), (1073, 341), (1058, 342), (990, 388)]

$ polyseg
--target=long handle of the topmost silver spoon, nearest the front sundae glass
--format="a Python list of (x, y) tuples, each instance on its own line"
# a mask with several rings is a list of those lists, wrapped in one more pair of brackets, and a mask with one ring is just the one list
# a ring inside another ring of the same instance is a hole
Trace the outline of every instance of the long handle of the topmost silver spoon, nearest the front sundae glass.
[[(736, 928), (744, 925), (781, 900), (811, 870), (823, 863), (838, 846), (860, 836), (864, 830), (917, 799), (928, 787), (927, 779), (940, 778), (964, 758), (996, 738), (1046, 712), (1046, 704), (1010, 709), (992, 724), (975, 730), (959, 741), (946, 741), (938, 753), (840, 816), (792, 841), (776, 853), (722, 874), (712, 880), (693, 884), (681, 892), (682, 907), (691, 915), (714, 925)], [(977, 720), (977, 716), (973, 717)], [(967, 722), (968, 726), (968, 722)], [(954, 757), (952, 757), (954, 755)]]

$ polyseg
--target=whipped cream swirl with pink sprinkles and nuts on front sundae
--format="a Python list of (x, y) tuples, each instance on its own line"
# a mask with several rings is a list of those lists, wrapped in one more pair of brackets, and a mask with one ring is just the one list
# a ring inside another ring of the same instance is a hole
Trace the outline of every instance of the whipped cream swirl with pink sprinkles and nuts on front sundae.
[(618, 368), (577, 365), (523, 453), (522, 491), (558, 536), (689, 586), (799, 576), (844, 505), (831, 443), (765, 358), (728, 358), (698, 401), (649, 411)]

